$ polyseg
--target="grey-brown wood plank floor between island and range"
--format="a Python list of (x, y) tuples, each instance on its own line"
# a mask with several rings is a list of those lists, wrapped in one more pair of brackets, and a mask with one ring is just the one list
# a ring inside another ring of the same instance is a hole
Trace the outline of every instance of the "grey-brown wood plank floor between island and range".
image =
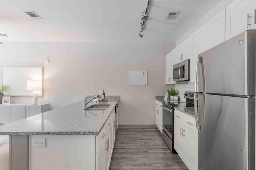
[(118, 128), (110, 170), (188, 170), (158, 128)]

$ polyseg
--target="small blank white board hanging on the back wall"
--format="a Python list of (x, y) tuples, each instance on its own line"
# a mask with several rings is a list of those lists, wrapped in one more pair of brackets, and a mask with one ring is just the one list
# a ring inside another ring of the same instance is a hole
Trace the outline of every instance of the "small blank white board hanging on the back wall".
[(148, 85), (147, 71), (128, 71), (129, 85)]

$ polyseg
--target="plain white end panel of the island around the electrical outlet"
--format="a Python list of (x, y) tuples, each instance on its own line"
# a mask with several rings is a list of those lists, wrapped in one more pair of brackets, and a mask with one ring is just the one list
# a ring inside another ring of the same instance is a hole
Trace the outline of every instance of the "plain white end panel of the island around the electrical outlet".
[(95, 170), (95, 135), (33, 135), (46, 147), (31, 147), (31, 170)]

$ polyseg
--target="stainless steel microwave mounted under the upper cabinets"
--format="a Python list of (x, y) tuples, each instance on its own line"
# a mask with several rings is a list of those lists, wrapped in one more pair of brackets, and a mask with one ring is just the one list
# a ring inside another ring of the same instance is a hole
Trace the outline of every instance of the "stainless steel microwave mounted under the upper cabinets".
[(190, 81), (190, 59), (173, 65), (173, 81)]

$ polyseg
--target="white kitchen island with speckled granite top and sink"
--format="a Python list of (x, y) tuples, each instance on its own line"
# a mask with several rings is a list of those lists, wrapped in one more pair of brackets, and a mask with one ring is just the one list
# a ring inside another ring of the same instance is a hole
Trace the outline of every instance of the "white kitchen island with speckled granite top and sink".
[(0, 126), (0, 135), (10, 135), (10, 170), (107, 170), (118, 98), (87, 105), (106, 110), (84, 110), (80, 101)]

